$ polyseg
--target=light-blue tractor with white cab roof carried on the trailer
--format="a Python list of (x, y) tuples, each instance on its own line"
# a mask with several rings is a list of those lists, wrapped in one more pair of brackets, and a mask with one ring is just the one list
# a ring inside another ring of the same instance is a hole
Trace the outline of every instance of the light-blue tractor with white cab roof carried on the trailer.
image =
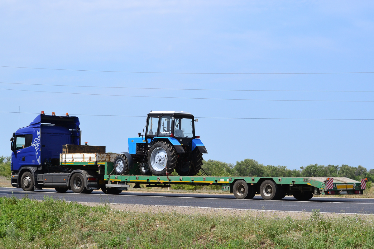
[(199, 173), (202, 154), (208, 152), (200, 137), (195, 136), (194, 122), (197, 119), (189, 112), (148, 113), (143, 135), (139, 133), (139, 137), (129, 138), (129, 153), (132, 160), (139, 163), (141, 173), (170, 175), (174, 169), (181, 176)]

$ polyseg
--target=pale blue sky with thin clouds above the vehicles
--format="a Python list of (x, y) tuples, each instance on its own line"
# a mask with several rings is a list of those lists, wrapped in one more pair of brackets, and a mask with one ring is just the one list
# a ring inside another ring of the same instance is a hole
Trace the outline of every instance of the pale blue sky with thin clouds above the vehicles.
[[(372, 1), (1, 1), (0, 65), (148, 72), (373, 72)], [(55, 71), (0, 67), (0, 82), (234, 90), (374, 90), (374, 74), (217, 75)], [(116, 89), (16, 85), (2, 89), (223, 99), (374, 100), (374, 92)], [(291, 169), (374, 168), (374, 102), (162, 99), (0, 90), (0, 111), (145, 116), (189, 111), (204, 159), (251, 158)], [(0, 113), (0, 155), (36, 114)], [(78, 115), (79, 116), (79, 115)], [(141, 117), (79, 116), (83, 140), (128, 149)]]

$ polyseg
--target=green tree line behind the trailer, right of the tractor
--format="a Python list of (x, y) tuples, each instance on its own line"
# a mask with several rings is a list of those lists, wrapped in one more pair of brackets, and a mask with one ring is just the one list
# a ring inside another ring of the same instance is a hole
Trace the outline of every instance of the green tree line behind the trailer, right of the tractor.
[(244, 159), (236, 164), (208, 160), (203, 161), (203, 169), (209, 176), (264, 176), (264, 177), (348, 177), (360, 181), (368, 178), (374, 181), (374, 169), (358, 165), (357, 167), (343, 165), (310, 164), (300, 169), (288, 169), (287, 166), (263, 165), (254, 159)]

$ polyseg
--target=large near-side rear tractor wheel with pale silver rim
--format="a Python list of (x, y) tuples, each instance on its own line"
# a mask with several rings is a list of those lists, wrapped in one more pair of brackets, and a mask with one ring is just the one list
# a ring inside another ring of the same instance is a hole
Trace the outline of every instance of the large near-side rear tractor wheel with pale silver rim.
[(154, 175), (170, 175), (177, 165), (177, 152), (164, 141), (156, 142), (148, 153), (148, 168)]

